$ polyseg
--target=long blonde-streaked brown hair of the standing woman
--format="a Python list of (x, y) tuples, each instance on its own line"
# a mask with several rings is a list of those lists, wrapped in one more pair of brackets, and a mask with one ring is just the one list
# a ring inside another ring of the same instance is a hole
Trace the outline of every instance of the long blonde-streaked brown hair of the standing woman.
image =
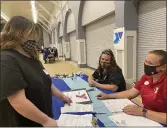
[(21, 45), (24, 40), (39, 41), (41, 29), (37, 24), (23, 16), (12, 17), (4, 26), (1, 32), (1, 50), (15, 48)]

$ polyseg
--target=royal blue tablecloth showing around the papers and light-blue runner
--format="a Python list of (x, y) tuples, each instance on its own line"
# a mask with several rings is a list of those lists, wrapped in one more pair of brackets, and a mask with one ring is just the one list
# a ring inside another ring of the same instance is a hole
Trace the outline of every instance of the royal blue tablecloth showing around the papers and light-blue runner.
[[(85, 80), (86, 82), (88, 81), (88, 77), (87, 76), (82, 76), (81, 77), (83, 80)], [(69, 88), (69, 86), (65, 83), (64, 80), (61, 80), (61, 79), (54, 79), (52, 78), (52, 83), (53, 85), (58, 88), (60, 91), (68, 91), (68, 90), (71, 90)], [(102, 89), (99, 89), (100, 91), (104, 92), (104, 93), (107, 93), (107, 94), (111, 94), (111, 93), (114, 93), (112, 91), (107, 91), (107, 90), (102, 90)], [(93, 97), (95, 97), (93, 95)], [(64, 103), (59, 100), (58, 98), (56, 98), (55, 96), (52, 97), (52, 111), (53, 111), (53, 118), (54, 119), (59, 119), (60, 115), (61, 115), (61, 107), (64, 106)], [(97, 111), (99, 111), (97, 109)], [(81, 115), (81, 114), (87, 114), (87, 113), (76, 113), (77, 115)], [(90, 113), (89, 113), (90, 114)], [(95, 115), (93, 115), (95, 116)], [(101, 116), (99, 116), (101, 117)], [(107, 116), (105, 116), (107, 117)], [(104, 127), (104, 124), (100, 121), (100, 120), (97, 120), (97, 123), (100, 127)]]

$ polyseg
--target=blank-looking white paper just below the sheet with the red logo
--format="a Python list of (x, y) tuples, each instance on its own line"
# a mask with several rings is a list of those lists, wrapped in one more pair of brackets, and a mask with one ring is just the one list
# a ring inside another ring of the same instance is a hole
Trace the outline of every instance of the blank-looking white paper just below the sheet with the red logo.
[(61, 108), (61, 113), (65, 112), (93, 112), (92, 104), (77, 104), (72, 103), (69, 105), (65, 105)]

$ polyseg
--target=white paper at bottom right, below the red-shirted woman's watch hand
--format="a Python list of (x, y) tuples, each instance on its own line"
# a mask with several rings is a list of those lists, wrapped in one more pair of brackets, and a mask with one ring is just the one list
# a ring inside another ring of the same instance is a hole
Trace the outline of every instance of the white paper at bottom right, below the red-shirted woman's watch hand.
[(118, 126), (162, 126), (159, 123), (142, 116), (127, 115), (119, 113), (109, 117)]

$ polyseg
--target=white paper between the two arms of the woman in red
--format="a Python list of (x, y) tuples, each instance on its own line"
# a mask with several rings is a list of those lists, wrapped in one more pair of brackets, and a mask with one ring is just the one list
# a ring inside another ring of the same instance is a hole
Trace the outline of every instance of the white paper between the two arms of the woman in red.
[(112, 113), (122, 112), (122, 109), (127, 105), (135, 105), (129, 99), (109, 99), (102, 100), (102, 102)]

